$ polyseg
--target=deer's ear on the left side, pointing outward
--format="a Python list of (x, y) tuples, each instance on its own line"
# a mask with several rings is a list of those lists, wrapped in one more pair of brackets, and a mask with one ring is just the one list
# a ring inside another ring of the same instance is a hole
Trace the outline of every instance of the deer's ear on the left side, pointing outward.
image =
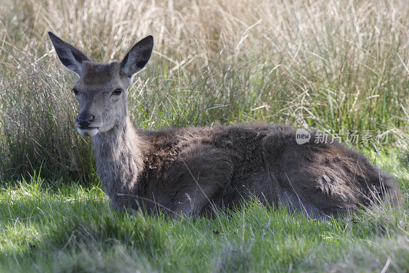
[(88, 57), (74, 46), (55, 36), (51, 31), (48, 32), (48, 35), (62, 64), (78, 76), (81, 76), (82, 62), (89, 60)]

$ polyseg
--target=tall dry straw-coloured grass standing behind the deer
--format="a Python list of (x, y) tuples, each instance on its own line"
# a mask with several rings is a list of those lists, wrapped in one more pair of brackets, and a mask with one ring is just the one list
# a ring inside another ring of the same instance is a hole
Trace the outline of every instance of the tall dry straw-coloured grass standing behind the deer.
[[(75, 76), (59, 64), (49, 30), (97, 61), (120, 59), (140, 38), (154, 36), (151, 60), (129, 91), (140, 128), (261, 120), (327, 132), (389, 132), (387, 145), (405, 151), (406, 5), (5, 0), (0, 179), (41, 167), (49, 179), (96, 181), (92, 145), (73, 125)], [(377, 139), (351, 144), (384, 146)]]

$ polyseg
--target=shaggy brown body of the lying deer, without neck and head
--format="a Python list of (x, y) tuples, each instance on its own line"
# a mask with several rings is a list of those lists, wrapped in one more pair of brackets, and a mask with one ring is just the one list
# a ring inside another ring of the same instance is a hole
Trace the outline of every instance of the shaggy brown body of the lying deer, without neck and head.
[(315, 143), (313, 132), (299, 145), (295, 133), (275, 124), (138, 132), (150, 148), (135, 195), (194, 214), (257, 197), (315, 218), (369, 205), (377, 194), (399, 199), (391, 176), (364, 156), (330, 139)]

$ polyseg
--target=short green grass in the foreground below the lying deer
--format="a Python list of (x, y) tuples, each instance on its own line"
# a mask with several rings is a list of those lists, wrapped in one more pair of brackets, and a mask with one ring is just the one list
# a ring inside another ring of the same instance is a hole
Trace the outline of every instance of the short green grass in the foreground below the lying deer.
[(98, 186), (48, 187), (36, 176), (2, 191), (0, 217), (0, 264), (10, 272), (409, 268), (407, 203), (318, 222), (253, 201), (214, 219), (175, 221), (112, 212)]

